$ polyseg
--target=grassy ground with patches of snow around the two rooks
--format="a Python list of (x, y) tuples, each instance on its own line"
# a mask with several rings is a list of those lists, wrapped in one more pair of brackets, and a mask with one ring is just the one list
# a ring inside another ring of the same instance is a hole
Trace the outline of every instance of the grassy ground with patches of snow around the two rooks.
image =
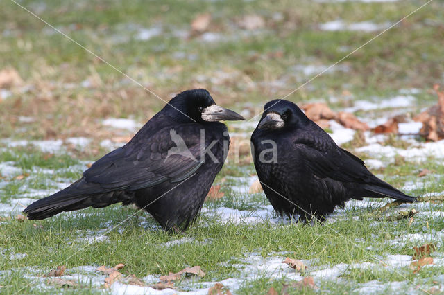
[[(425, 142), (411, 120), (436, 103), (434, 84), (444, 84), (443, 1), (393, 28), (427, 1), (18, 2), (96, 56), (14, 1), (3, 2), (0, 71), (18, 76), (0, 87), (1, 293), (206, 294), (218, 282), (235, 294), (271, 287), (444, 292), (444, 141)], [(205, 202), (186, 233), (164, 233), (147, 213), (120, 205), (17, 219), (33, 200), (65, 188), (128, 141), (162, 100), (194, 87), (248, 120), (228, 124), (232, 154), (215, 181), (224, 195)], [(313, 226), (277, 217), (262, 192), (250, 193), (256, 176), (248, 139), (264, 103), (295, 89), (288, 100), (326, 102), (370, 127), (407, 114), (399, 134), (335, 122), (326, 130), (377, 176), (438, 201), (393, 206), (385, 215), (379, 208), (388, 199), (353, 201)], [(418, 177), (425, 168), (430, 173)], [(413, 208), (413, 219), (391, 218)], [(426, 243), (436, 246), (433, 265), (413, 272), (413, 247)], [(287, 267), (286, 257), (307, 268)], [(123, 280), (105, 289), (97, 267), (119, 263)], [(59, 265), (67, 267), (61, 278), (76, 286), (44, 277)], [(160, 276), (194, 265), (206, 275), (184, 277), (175, 290), (151, 288)], [(132, 274), (144, 286), (128, 283)], [(308, 277), (314, 287), (293, 284)]]

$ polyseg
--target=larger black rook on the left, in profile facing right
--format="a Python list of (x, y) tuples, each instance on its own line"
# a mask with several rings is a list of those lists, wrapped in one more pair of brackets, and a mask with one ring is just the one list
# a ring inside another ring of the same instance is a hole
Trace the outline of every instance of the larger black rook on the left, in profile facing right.
[(41, 220), (62, 211), (134, 203), (166, 231), (187, 229), (228, 154), (228, 129), (219, 120), (244, 118), (216, 105), (205, 89), (183, 91), (126, 145), (24, 213), (28, 219)]

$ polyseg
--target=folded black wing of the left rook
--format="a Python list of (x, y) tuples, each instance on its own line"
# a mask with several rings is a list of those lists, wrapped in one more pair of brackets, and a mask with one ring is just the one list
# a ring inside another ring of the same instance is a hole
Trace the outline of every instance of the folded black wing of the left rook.
[[(171, 129), (183, 139), (189, 153), (169, 154), (169, 150), (178, 147), (173, 141), (177, 138), (171, 138)], [(202, 165), (200, 129), (200, 125), (190, 123), (164, 127), (148, 138), (136, 136), (127, 145), (96, 161), (83, 176), (104, 190), (137, 190), (167, 180), (182, 181)]]

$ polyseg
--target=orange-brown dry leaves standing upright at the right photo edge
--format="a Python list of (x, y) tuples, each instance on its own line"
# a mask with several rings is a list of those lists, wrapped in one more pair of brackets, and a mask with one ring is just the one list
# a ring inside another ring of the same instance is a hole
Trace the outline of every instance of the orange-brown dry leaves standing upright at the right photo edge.
[(413, 118), (422, 123), (420, 135), (429, 141), (438, 141), (444, 138), (444, 91), (439, 91), (439, 85), (434, 85), (438, 95), (438, 104), (429, 107)]

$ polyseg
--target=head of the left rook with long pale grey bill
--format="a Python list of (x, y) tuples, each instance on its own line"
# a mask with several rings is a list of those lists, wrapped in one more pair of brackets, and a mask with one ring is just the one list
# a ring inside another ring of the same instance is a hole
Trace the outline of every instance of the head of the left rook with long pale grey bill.
[(176, 118), (198, 123), (218, 122), (220, 120), (245, 120), (236, 112), (219, 107), (205, 89), (192, 89), (179, 93), (166, 106), (175, 113)]

